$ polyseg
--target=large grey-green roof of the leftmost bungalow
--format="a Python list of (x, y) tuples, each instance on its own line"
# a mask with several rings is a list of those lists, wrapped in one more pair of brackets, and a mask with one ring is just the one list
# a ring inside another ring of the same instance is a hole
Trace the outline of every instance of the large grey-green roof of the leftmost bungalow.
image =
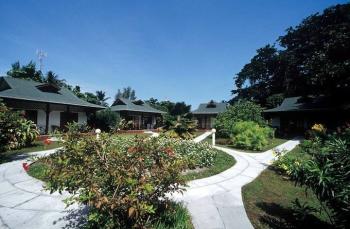
[(103, 109), (105, 107), (86, 102), (67, 88), (47, 83), (13, 77), (0, 77), (0, 98), (27, 100)]

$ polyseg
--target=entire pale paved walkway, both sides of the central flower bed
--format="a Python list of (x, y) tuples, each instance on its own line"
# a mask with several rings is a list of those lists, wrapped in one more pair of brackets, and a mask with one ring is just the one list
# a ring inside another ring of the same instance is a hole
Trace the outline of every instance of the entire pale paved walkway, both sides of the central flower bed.
[[(278, 149), (291, 150), (298, 140), (288, 141)], [(184, 195), (174, 195), (184, 201), (192, 215), (196, 229), (252, 228), (246, 215), (241, 188), (254, 180), (274, 156), (272, 150), (264, 153), (241, 153), (216, 147), (235, 157), (237, 163), (230, 169), (204, 179), (189, 182)], [(34, 153), (45, 156), (54, 150)], [(73, 205), (68, 209), (62, 202), (68, 194), (50, 194), (43, 191), (43, 182), (23, 170), (25, 160), (0, 165), (0, 228), (76, 228), (83, 222), (83, 209)]]

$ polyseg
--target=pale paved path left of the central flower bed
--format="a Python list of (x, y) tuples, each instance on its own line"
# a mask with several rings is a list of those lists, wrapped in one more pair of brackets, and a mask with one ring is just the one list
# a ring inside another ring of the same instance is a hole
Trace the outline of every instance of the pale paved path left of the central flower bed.
[[(44, 156), (55, 150), (41, 151), (32, 156)], [(74, 228), (82, 214), (77, 205), (65, 208), (62, 202), (68, 194), (50, 194), (43, 182), (24, 171), (18, 160), (0, 165), (0, 228), (50, 229)]]

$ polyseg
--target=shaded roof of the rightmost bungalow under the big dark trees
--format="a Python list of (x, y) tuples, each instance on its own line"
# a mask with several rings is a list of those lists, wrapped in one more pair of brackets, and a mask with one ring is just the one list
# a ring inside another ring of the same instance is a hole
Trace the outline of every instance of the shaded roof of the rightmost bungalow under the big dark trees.
[(275, 112), (297, 112), (297, 111), (326, 111), (332, 110), (336, 107), (330, 100), (325, 96), (319, 97), (308, 97), (304, 98), (301, 96), (285, 98), (281, 105), (278, 107), (264, 110), (264, 113), (275, 113)]

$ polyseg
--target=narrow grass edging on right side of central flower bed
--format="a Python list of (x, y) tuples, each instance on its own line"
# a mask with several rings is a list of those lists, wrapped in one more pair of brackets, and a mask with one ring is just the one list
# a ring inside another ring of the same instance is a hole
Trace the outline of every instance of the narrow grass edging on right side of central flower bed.
[(231, 168), (235, 163), (236, 160), (231, 155), (218, 150), (214, 164), (211, 167), (200, 170), (199, 172), (189, 172), (184, 175), (184, 178), (186, 181), (190, 181), (210, 177)]

